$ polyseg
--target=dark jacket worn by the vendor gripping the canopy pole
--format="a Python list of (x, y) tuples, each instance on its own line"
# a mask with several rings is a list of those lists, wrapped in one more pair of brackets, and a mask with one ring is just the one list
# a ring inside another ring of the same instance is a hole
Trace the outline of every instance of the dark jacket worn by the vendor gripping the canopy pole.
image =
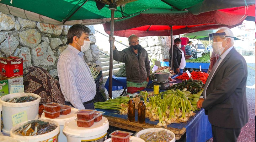
[(115, 49), (113, 59), (125, 63), (127, 81), (142, 83), (150, 76), (148, 53), (141, 46), (138, 48), (138, 57), (132, 47), (129, 47), (122, 51)]

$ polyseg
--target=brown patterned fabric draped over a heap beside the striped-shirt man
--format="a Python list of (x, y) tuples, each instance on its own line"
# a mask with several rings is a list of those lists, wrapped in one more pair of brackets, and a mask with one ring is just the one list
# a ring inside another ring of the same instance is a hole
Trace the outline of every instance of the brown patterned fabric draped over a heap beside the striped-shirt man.
[(42, 67), (28, 66), (23, 71), (23, 84), (24, 92), (38, 94), (41, 97), (40, 104), (65, 102), (59, 82)]

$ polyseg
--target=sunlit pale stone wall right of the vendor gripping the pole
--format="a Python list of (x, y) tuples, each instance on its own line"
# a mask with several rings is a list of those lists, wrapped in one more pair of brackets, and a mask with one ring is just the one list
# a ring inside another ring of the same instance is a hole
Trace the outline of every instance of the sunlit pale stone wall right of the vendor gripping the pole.
[[(178, 36), (173, 36), (173, 40)], [(156, 59), (162, 61), (163, 59), (169, 59), (169, 50), (171, 47), (171, 37), (140, 37), (140, 45), (146, 49), (149, 55), (149, 59), (152, 61)]]

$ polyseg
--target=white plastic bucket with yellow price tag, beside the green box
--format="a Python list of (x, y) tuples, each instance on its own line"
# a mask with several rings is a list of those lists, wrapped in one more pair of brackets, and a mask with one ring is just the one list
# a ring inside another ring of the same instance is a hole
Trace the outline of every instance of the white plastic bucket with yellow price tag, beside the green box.
[[(38, 99), (26, 103), (8, 103), (4, 101), (6, 99), (11, 99), (14, 97), (23, 97), (27, 95), (33, 95)], [(8, 131), (10, 131), (13, 126), (20, 122), (37, 119), (40, 100), (41, 97), (33, 93), (14, 93), (4, 95), (3, 97), (1, 97), (0, 103), (2, 104), (2, 119), (4, 122), (3, 131), (8, 133)], [(16, 114), (20, 114), (20, 116), (22, 115), (22, 118), (19, 118), (19, 116)]]

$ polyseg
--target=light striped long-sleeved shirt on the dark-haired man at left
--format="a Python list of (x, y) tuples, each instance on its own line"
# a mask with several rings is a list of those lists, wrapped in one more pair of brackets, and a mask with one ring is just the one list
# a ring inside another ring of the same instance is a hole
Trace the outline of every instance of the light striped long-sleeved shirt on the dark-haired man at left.
[(59, 56), (58, 75), (65, 101), (77, 109), (85, 109), (82, 103), (95, 97), (96, 84), (84, 61), (84, 53), (68, 45)]

